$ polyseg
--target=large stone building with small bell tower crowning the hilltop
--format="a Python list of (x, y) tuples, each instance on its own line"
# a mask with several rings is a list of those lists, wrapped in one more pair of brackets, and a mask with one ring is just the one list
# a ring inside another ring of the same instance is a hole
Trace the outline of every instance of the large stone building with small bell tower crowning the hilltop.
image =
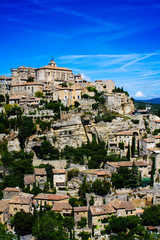
[[(40, 67), (35, 70), (37, 82), (51, 82), (54, 84), (56, 81), (69, 82), (74, 79), (71, 69), (65, 67), (57, 67), (57, 64), (52, 59), (48, 66)], [(54, 84), (55, 85), (55, 84)]]

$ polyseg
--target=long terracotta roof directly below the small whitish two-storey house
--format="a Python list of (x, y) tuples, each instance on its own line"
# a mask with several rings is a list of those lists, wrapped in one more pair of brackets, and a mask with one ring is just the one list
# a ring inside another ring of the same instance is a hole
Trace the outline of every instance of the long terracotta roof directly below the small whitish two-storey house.
[(69, 197), (67, 195), (58, 195), (58, 194), (45, 194), (39, 193), (36, 197), (36, 200), (48, 200), (48, 201), (61, 201), (61, 200), (68, 200)]

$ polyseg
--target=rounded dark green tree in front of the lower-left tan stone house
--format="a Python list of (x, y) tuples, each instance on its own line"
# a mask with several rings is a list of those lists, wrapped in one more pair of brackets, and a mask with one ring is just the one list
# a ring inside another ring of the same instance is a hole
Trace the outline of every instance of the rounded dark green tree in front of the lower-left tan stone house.
[(24, 211), (17, 212), (11, 219), (11, 225), (14, 227), (18, 236), (29, 235), (32, 233), (34, 217), (31, 213)]

